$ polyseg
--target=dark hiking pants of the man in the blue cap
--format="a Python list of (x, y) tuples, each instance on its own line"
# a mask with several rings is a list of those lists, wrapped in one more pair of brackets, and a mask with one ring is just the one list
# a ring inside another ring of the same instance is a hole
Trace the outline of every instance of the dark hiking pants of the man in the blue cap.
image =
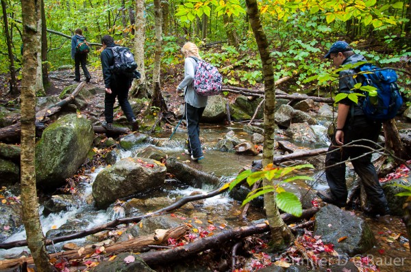
[[(353, 122), (347, 120), (345, 124), (344, 144), (358, 139), (369, 139), (376, 142), (379, 131), (381, 131), (381, 123), (367, 120), (362, 115), (355, 116)], [(368, 141), (358, 141), (353, 143), (353, 145), (375, 148), (374, 144)], [(335, 151), (330, 152), (332, 150)], [(360, 176), (362, 185), (364, 185), (371, 210), (384, 212), (387, 207), (384, 191), (379, 185), (377, 172), (375, 171), (373, 163), (371, 163), (371, 154), (364, 155), (365, 153), (371, 152), (371, 150), (369, 148), (349, 146), (340, 148), (340, 146), (336, 145), (334, 137), (328, 151), (330, 153), (327, 154), (325, 159), (325, 166), (334, 165), (350, 158), (354, 170), (358, 176)], [(345, 163), (327, 168), (325, 174), (327, 176), (329, 189), (336, 202), (345, 204), (348, 195), (347, 185), (345, 184)]]

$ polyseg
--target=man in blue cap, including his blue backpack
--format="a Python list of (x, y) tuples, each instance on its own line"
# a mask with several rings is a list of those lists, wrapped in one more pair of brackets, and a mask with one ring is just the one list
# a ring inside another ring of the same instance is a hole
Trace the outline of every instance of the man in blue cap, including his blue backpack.
[[(344, 41), (332, 44), (325, 58), (332, 59), (336, 68), (343, 65), (353, 67), (355, 66), (353, 64), (361, 62), (358, 67), (339, 72), (339, 93), (358, 92), (364, 96), (358, 96), (358, 103), (354, 103), (348, 96), (338, 100), (335, 134), (325, 159), (327, 167), (325, 174), (330, 191), (329, 193), (319, 191), (317, 195), (324, 202), (336, 206), (343, 207), (347, 204), (345, 163), (342, 162), (351, 159), (354, 170), (360, 176), (366, 191), (369, 202), (369, 209), (365, 210), (366, 214), (372, 217), (387, 215), (389, 213), (387, 200), (381, 185), (379, 185), (375, 167), (371, 162), (372, 152), (370, 148), (375, 148), (371, 141), (377, 141), (382, 122), (394, 118), (399, 106), (401, 106), (401, 96), (399, 96), (398, 89), (395, 89), (397, 77), (395, 75), (395, 80), (393, 80), (390, 77), (392, 74), (388, 74), (393, 70), (379, 69), (368, 64), (364, 56), (354, 53), (349, 44)], [(369, 78), (371, 74), (377, 74), (379, 79), (372, 78), (371, 81)], [(386, 78), (388, 79), (385, 80)], [(377, 87), (369, 89), (369, 93), (361, 92), (359, 87), (364, 85)], [(384, 96), (384, 92), (388, 95)], [(351, 142), (354, 146), (347, 146)], [(342, 147), (343, 145), (344, 147)], [(369, 148), (361, 148), (360, 146)]]

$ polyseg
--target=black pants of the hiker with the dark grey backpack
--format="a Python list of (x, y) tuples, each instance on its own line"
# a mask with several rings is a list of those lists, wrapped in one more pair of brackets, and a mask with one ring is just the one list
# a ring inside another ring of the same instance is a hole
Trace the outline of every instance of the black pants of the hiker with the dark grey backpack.
[(132, 122), (135, 116), (132, 110), (132, 106), (130, 105), (128, 101), (129, 86), (119, 85), (117, 87), (112, 87), (111, 90), (112, 90), (112, 93), (108, 94), (106, 92), (105, 97), (104, 97), (105, 122), (108, 122), (108, 123), (113, 122), (114, 103), (116, 102), (116, 97), (117, 97), (117, 100), (119, 100), (119, 104), (121, 106), (121, 109), (123, 109), (125, 117), (127, 117), (127, 120), (129, 122)]

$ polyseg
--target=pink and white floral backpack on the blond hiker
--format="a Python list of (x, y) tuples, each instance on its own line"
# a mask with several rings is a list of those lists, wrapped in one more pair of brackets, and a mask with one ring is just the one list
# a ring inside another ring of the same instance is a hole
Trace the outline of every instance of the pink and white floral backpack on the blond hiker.
[(197, 62), (197, 70), (194, 73), (194, 80), (192, 86), (195, 92), (200, 96), (215, 96), (221, 93), (221, 85), (223, 84), (223, 77), (219, 73), (219, 70), (204, 62), (197, 57), (191, 57)]

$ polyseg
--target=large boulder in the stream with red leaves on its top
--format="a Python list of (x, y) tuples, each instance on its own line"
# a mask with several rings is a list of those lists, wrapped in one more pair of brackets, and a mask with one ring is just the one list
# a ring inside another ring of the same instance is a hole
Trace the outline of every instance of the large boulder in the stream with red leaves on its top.
[(99, 208), (107, 208), (115, 200), (159, 187), (166, 178), (166, 167), (158, 161), (125, 158), (106, 167), (92, 184), (92, 196)]

